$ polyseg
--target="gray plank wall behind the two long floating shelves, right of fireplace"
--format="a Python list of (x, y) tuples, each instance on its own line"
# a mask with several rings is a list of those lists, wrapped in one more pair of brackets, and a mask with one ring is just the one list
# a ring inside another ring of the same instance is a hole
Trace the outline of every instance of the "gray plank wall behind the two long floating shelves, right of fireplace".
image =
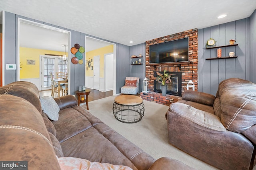
[[(254, 57), (250, 56), (248, 50), (250, 49), (248, 46), (253, 42), (246, 41), (250, 39), (250, 31), (253, 31), (248, 30), (248, 25), (250, 20), (242, 19), (198, 30), (198, 91), (215, 96), (218, 84), (222, 80), (232, 77), (250, 80), (250, 76), (246, 73), (255, 75), (255, 65), (254, 73), (248, 71), (250, 69), (248, 61), (254, 58), (255, 64), (255, 54)], [(255, 32), (255, 26), (252, 29)], [(222, 47), (222, 57), (228, 57), (229, 52), (234, 51), (238, 58), (206, 60), (217, 57), (217, 48), (205, 49), (206, 42), (210, 38), (215, 39), (216, 46), (229, 45), (228, 41), (235, 39), (238, 46)]]

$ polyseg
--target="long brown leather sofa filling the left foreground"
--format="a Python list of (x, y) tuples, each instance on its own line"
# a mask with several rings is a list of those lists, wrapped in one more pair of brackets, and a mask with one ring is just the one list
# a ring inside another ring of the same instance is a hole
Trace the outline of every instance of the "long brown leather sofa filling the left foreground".
[(39, 91), (29, 82), (0, 88), (0, 160), (28, 161), (29, 170), (59, 170), (58, 157), (129, 166), (134, 170), (193, 169), (180, 161), (155, 160), (122, 135), (77, 106), (74, 96), (54, 98), (60, 111), (50, 121)]

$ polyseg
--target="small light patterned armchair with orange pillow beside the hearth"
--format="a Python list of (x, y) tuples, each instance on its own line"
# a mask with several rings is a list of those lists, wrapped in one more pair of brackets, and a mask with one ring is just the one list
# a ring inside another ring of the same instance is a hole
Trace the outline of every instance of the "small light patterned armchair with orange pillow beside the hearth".
[(126, 77), (125, 84), (121, 87), (122, 94), (137, 94), (139, 92), (139, 77)]

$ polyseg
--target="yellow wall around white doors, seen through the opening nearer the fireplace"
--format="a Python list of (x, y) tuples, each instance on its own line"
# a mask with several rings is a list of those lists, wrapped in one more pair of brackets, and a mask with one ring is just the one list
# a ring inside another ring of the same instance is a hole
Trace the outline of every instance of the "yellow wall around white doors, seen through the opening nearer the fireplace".
[[(108, 53), (113, 53), (113, 45), (108, 45), (106, 47), (102, 47), (100, 49), (96, 49), (86, 53), (86, 60), (89, 61), (90, 59), (91, 61), (92, 59), (91, 66), (94, 66), (93, 57), (100, 56), (100, 77), (101, 78), (104, 78), (104, 54), (108, 54)], [(88, 63), (86, 63), (86, 67), (88, 67)], [(88, 70), (86, 70), (86, 76), (93, 76), (93, 70), (91, 70), (91, 68), (88, 68)]]

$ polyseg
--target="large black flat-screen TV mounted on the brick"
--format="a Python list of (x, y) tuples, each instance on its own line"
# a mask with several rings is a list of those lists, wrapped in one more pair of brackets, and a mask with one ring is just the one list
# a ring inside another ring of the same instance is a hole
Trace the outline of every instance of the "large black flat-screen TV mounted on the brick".
[(188, 61), (188, 37), (149, 46), (149, 63)]

